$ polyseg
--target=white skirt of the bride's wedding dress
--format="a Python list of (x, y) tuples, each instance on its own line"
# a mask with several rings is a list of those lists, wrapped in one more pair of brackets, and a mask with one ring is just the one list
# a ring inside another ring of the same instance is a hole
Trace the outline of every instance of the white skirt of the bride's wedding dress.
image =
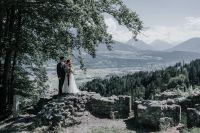
[(62, 92), (63, 93), (78, 93), (78, 92), (80, 92), (80, 90), (77, 88), (73, 73), (70, 73), (70, 75), (69, 75), (69, 85), (68, 85), (68, 77), (66, 74)]

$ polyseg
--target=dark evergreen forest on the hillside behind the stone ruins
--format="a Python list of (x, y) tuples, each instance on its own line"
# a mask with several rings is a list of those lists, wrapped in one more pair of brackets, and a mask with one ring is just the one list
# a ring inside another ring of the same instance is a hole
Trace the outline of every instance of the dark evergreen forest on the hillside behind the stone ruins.
[(176, 63), (156, 71), (140, 71), (106, 79), (94, 79), (80, 87), (81, 90), (98, 92), (103, 96), (130, 95), (136, 99), (154, 99), (155, 94), (166, 90), (197, 88), (200, 84), (200, 59), (190, 63)]

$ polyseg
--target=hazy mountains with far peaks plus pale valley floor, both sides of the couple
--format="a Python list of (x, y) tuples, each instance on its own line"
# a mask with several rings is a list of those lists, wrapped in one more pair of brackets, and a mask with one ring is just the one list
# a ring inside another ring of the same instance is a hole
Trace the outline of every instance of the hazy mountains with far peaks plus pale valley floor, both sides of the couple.
[[(112, 51), (109, 51), (105, 44), (100, 44), (96, 51), (96, 58), (94, 59), (88, 55), (87, 52), (81, 50), (88, 71), (87, 74), (75, 71), (76, 80), (78, 83), (83, 83), (96, 77), (132, 73), (140, 70), (155, 70), (168, 65), (173, 65), (177, 62), (188, 62), (200, 58), (200, 53), (198, 51), (200, 45), (198, 42), (200, 42), (199, 38), (193, 38), (175, 46), (174, 48), (164, 51), (156, 50), (156, 48), (153, 47), (153, 44), (146, 44), (140, 40), (137, 41), (137, 43), (130, 40), (125, 44), (114, 41)], [(76, 57), (78, 56), (76, 51), (74, 51), (73, 54)], [(78, 67), (80, 65), (77, 59), (72, 60), (75, 66)], [(47, 70), (50, 83), (53, 88), (56, 88), (56, 86), (54, 87), (57, 83), (55, 73), (56, 62), (49, 61), (48, 66)]]

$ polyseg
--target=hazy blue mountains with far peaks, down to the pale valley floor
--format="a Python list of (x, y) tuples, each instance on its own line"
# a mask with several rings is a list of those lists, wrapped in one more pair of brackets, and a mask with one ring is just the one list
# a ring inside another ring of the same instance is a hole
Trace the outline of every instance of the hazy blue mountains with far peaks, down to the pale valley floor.
[[(158, 42), (164, 44), (162, 41), (156, 41), (156, 45)], [(187, 62), (200, 58), (200, 52), (198, 52), (200, 45), (198, 42), (200, 42), (200, 38), (193, 38), (173, 48), (165, 50), (167, 47), (162, 47), (157, 50), (152, 44), (146, 44), (140, 40), (136, 43), (132, 40), (127, 43), (114, 41), (111, 51), (107, 50), (105, 44), (100, 44), (95, 59), (87, 54), (84, 58), (88, 68), (144, 67), (180, 61)]]

